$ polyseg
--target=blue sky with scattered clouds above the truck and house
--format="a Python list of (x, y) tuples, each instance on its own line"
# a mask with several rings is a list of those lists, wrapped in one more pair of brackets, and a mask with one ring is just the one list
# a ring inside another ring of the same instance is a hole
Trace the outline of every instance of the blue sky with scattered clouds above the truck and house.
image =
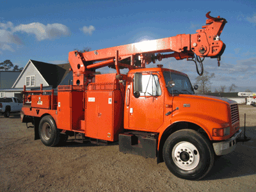
[[(218, 67), (205, 58), (204, 70), (215, 74), (212, 92), (220, 86), (256, 92), (256, 1), (0, 1), (0, 62), (25, 67), (29, 60), (61, 64), (68, 52), (132, 44), (143, 40), (194, 34), (205, 14), (223, 17), (220, 35), (226, 44)], [(195, 84), (195, 63), (174, 58), (158, 61), (188, 74)], [(98, 70), (100, 71), (100, 70)], [(108, 67), (102, 73), (115, 72)]]

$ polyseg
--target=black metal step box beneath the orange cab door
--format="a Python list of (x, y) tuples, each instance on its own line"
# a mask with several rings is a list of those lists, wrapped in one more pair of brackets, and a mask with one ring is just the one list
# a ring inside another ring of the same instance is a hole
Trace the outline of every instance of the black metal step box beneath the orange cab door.
[(119, 134), (119, 151), (143, 157), (157, 157), (158, 134), (148, 132), (124, 132)]

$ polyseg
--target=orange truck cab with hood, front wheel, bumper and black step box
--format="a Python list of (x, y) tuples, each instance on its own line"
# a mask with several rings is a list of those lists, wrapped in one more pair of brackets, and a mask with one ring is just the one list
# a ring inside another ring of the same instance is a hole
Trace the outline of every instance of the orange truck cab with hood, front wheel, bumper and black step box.
[(128, 73), (124, 129), (120, 151), (157, 157), (186, 179), (198, 177), (189, 172), (200, 162), (210, 168), (214, 156), (232, 152), (241, 133), (237, 102), (195, 95), (186, 74), (161, 66)]

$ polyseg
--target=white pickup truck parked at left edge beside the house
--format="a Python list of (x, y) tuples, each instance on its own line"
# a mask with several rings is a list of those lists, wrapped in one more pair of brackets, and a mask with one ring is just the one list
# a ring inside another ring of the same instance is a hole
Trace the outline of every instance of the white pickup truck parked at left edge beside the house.
[(4, 117), (9, 117), (10, 113), (20, 112), (22, 105), (22, 101), (17, 97), (0, 98), (0, 114), (3, 114)]

